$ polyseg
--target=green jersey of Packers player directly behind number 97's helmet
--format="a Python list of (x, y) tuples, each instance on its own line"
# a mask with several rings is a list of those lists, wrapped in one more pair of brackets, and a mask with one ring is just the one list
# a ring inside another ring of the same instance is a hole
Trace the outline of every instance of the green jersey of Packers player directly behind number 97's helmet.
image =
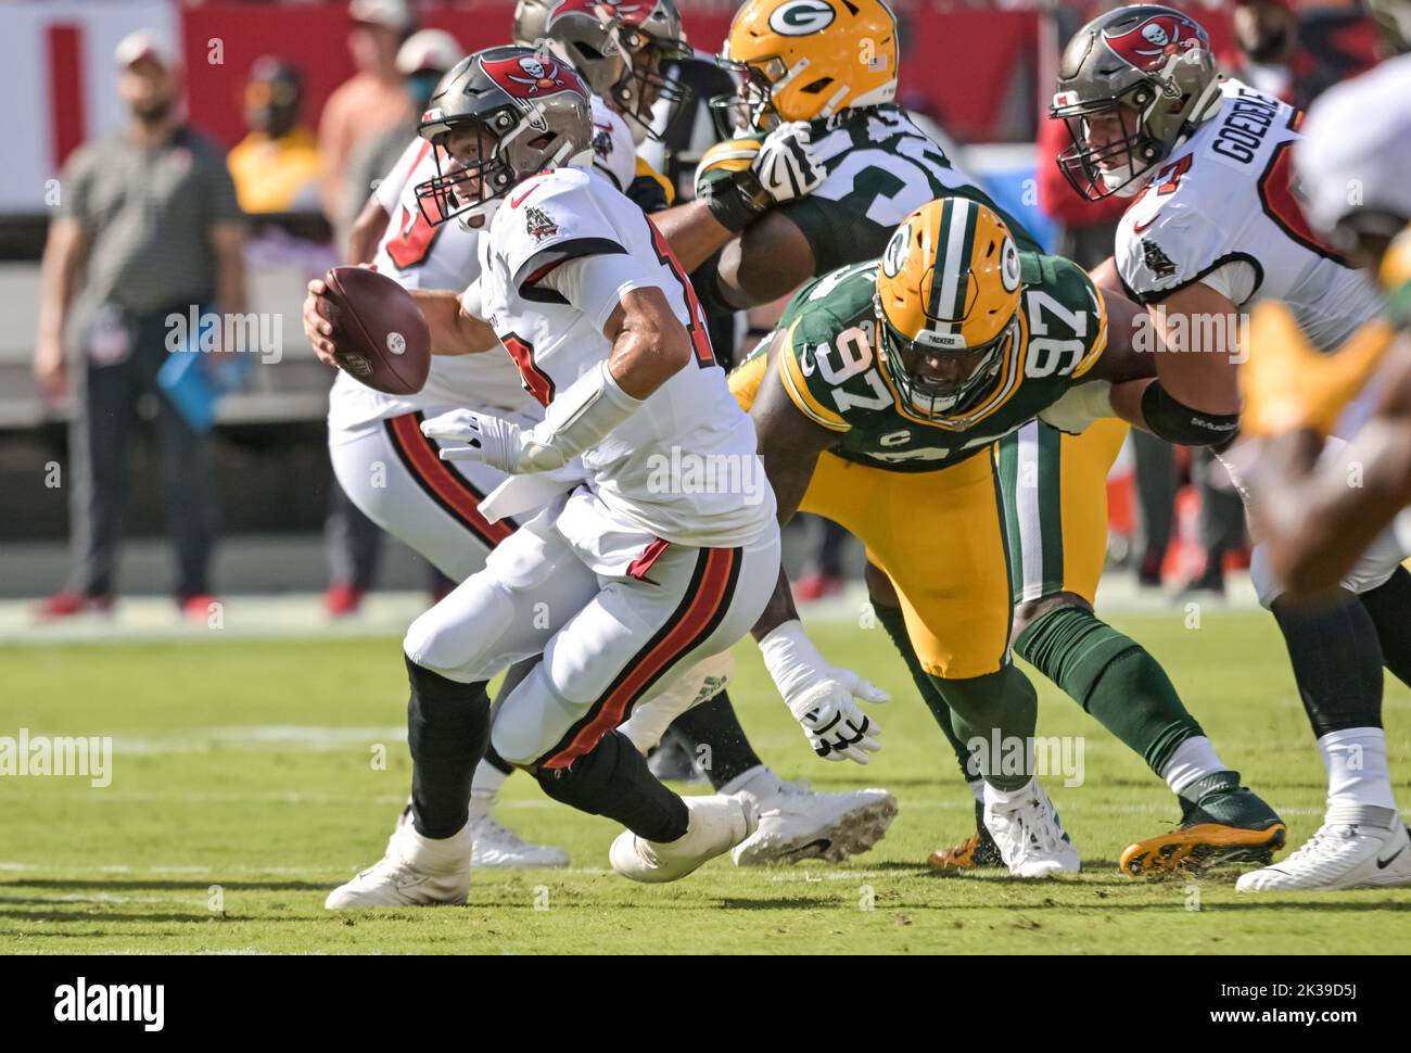
[(945, 196), (993, 209), (1020, 248), (1038, 251), (1023, 224), (958, 171), (902, 107), (844, 110), (811, 128), (813, 154), (827, 175), (806, 198), (779, 207), (809, 239), (818, 274), (878, 258), (903, 219)]

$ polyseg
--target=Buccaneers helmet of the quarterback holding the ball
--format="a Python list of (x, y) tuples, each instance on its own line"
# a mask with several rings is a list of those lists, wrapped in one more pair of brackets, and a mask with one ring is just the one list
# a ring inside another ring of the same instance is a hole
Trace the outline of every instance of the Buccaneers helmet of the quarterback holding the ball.
[(487, 48), (442, 78), (418, 133), (436, 158), (416, 186), (422, 215), (474, 230), (516, 183), (591, 150), (588, 89), (552, 55)]

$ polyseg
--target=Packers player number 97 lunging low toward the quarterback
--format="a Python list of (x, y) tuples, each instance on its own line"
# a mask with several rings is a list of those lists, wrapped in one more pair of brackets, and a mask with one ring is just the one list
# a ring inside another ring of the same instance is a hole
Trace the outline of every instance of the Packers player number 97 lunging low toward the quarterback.
[[(895, 586), (897, 635), (914, 646), (919, 686), (969, 774), (983, 776), (985, 827), (1016, 877), (1078, 868), (1031, 769), (1010, 771), (989, 750), (1027, 742), (1034, 730), (1033, 687), (1009, 659), (1012, 598), (1024, 596), (1016, 563), (1040, 562), (1043, 548), (1060, 562), (1064, 536), (1026, 528), (1065, 525), (1084, 491), (1031, 471), (1046, 442), (1031, 422), (1071, 415), (1085, 388), (1146, 383), (1139, 378), (1153, 364), (1132, 349), (1136, 312), (1072, 263), (1020, 251), (991, 209), (945, 198), (909, 216), (879, 263), (800, 289), (776, 336), (731, 383), (755, 418), (780, 517), (801, 508), (840, 522)], [(1140, 414), (1133, 422), (1144, 423)], [(1182, 798), (1182, 829), (1143, 848), (1129, 871), (1267, 858), (1283, 843), (1283, 823), (1221, 764), (1160, 666), (1092, 617), (1101, 563), (1088, 562), (1046, 572), (1060, 586), (1048, 613), (1068, 617), (1030, 638), (1030, 654), (1044, 672), (1057, 669), (1065, 690), (1086, 678), (1120, 694), (1123, 716), (1110, 706), (1089, 711), (1149, 761), (1163, 755), (1164, 768), (1180, 758), (1182, 774), (1202, 783)], [(1070, 589), (1082, 591), (1070, 600)], [(790, 665), (824, 665), (796, 617), (780, 580), (755, 637), (782, 689)], [(831, 721), (851, 730), (851, 748), (875, 747), (872, 721), (849, 699), (789, 702), (806, 730)], [(1168, 782), (1173, 775), (1164, 772)]]

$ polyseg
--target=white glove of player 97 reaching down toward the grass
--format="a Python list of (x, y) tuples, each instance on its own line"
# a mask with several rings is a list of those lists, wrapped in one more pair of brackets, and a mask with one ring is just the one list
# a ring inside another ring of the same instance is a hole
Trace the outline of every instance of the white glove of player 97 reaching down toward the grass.
[(878, 741), (882, 726), (858, 709), (854, 699), (886, 702), (890, 696), (851, 669), (828, 665), (797, 620), (761, 639), (759, 652), (818, 757), (866, 764), (869, 754), (882, 748)]

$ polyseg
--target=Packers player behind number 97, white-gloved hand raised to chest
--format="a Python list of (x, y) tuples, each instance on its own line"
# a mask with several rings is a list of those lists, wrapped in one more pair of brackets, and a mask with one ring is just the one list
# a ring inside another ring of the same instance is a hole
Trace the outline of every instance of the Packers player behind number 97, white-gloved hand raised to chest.
[(896, 31), (882, 0), (746, 0), (737, 11), (720, 62), (741, 89), (714, 104), (739, 137), (707, 151), (696, 200), (655, 217), (687, 270), (720, 253), (708, 292), (724, 303), (766, 303), (876, 258), (934, 198), (998, 210), (895, 104)]

